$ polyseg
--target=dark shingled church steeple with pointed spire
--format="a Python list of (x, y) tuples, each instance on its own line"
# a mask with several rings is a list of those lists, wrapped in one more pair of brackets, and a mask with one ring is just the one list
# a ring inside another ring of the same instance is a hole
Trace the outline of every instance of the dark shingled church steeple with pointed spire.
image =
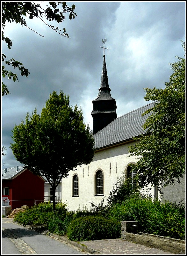
[(108, 85), (108, 76), (106, 71), (105, 55), (103, 55), (103, 69), (101, 75), (101, 86), (97, 98), (92, 100), (93, 111), (93, 134), (103, 129), (107, 124), (110, 124), (117, 118), (116, 114), (116, 101), (111, 97)]

